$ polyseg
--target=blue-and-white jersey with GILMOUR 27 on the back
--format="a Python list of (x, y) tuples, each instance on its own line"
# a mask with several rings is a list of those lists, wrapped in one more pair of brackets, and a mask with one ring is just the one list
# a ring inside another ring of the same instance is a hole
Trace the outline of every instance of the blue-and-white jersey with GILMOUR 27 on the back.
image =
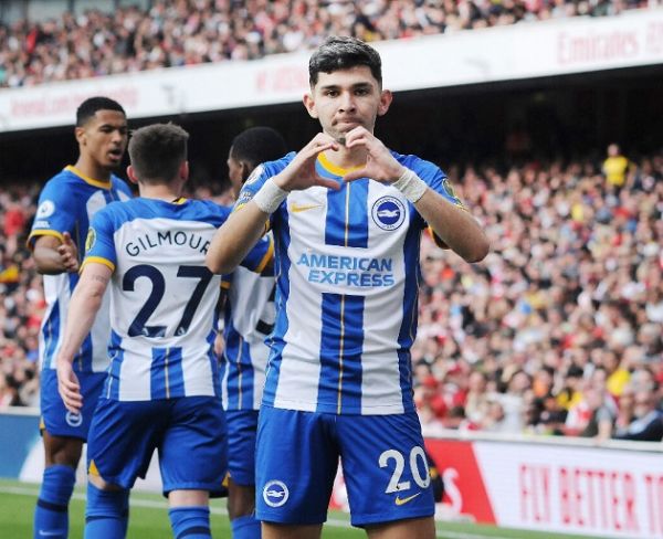
[[(206, 267), (204, 256), (229, 213), (210, 201), (140, 198), (95, 215), (83, 266), (97, 262), (113, 270), (112, 364), (103, 397), (219, 395), (213, 341), (221, 277)], [(251, 251), (242, 264), (260, 271), (263, 258)]]

